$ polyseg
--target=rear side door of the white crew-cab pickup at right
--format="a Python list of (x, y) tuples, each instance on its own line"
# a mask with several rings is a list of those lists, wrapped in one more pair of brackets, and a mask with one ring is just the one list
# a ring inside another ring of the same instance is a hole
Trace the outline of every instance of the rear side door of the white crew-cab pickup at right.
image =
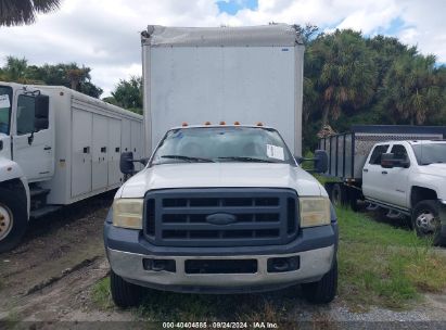
[(362, 168), (362, 193), (366, 199), (385, 201), (386, 169), (381, 166), (381, 155), (387, 152), (390, 144), (378, 144), (373, 148)]

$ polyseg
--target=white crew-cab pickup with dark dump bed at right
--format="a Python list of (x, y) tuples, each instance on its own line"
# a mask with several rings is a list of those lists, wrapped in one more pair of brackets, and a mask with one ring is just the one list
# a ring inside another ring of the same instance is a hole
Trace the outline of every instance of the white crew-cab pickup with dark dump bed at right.
[(334, 204), (386, 210), (410, 218), (418, 236), (446, 244), (446, 127), (353, 126), (322, 138), (329, 154), (326, 188)]

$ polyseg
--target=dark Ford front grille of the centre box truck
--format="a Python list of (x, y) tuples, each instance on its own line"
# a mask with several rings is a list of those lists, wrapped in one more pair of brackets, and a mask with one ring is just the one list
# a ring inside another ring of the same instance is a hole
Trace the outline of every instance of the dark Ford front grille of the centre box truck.
[(166, 189), (145, 195), (144, 234), (156, 245), (285, 244), (298, 228), (289, 189)]

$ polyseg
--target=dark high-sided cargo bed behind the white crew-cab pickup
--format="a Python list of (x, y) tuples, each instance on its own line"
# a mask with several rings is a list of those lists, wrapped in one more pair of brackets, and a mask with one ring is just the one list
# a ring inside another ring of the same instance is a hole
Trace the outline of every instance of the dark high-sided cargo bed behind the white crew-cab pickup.
[(446, 126), (355, 125), (345, 134), (319, 140), (319, 149), (329, 155), (326, 175), (341, 179), (360, 179), (370, 150), (390, 140), (444, 139)]

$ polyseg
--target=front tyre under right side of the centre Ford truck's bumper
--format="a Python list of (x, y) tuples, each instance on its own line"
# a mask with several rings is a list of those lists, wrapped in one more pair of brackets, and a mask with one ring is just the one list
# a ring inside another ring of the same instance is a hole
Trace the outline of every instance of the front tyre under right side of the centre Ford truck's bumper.
[(305, 299), (313, 304), (328, 304), (337, 291), (337, 262), (319, 281), (302, 284)]

